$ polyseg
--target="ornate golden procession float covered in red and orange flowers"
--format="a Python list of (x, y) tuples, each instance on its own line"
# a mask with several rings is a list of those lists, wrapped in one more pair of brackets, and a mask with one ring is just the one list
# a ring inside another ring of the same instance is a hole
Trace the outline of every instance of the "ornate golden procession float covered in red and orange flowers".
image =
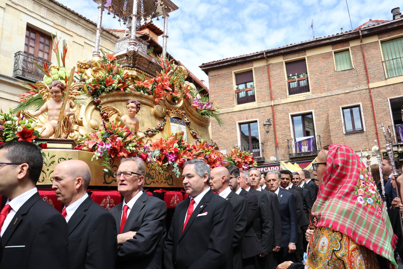
[[(49, 188), (54, 167), (79, 159), (91, 168), (90, 186), (116, 190), (119, 159), (142, 158), (145, 188), (182, 188), (185, 161), (200, 158), (210, 167), (256, 167), (251, 154), (234, 148), (222, 154), (209, 135), (218, 107), (187, 81), (188, 71), (166, 55), (169, 0), (99, 0), (96, 45), (91, 59), (66, 66), (67, 45), (54, 37), (56, 62), (38, 67), (43, 81), (27, 83), (20, 104), (0, 114), (0, 144), (27, 140), (42, 148), (44, 166), (38, 185)], [(130, 34), (116, 40), (116, 52), (100, 49), (102, 11), (129, 24)], [(162, 53), (147, 54), (135, 35), (140, 21), (164, 18)], [(105, 188), (107, 186), (108, 188)]]

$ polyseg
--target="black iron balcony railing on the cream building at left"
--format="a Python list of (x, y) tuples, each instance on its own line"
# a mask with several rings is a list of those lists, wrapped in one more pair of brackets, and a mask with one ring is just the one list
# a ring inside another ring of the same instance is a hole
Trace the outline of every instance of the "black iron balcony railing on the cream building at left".
[(48, 63), (49, 66), (51, 65), (47, 60), (19, 51), (14, 54), (12, 76), (31, 82), (41, 81), (44, 78), (44, 73), (42, 73), (41, 69), (37, 68), (32, 61), (40, 66), (43, 66), (44, 62)]

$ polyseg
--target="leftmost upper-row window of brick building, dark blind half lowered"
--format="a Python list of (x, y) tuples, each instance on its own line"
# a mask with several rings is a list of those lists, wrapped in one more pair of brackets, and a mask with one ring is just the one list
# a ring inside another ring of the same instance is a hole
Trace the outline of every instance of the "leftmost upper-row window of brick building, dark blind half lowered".
[(237, 104), (255, 102), (255, 88), (253, 85), (253, 71), (235, 74)]

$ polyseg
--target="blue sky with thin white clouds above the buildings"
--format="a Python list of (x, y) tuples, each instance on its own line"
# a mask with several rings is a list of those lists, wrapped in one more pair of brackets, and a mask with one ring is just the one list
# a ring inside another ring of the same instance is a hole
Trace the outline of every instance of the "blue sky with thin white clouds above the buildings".
[[(198, 67), (212, 60), (277, 48), (315, 37), (351, 30), (345, 0), (172, 0), (179, 9), (168, 18), (168, 52), (199, 79), (208, 76)], [(93, 0), (60, 3), (96, 22)], [(353, 29), (366, 21), (391, 20), (391, 9), (403, 1), (348, 0)], [(163, 20), (153, 23), (163, 29)], [(102, 26), (124, 29), (112, 15)], [(160, 38), (162, 44), (162, 38)]]

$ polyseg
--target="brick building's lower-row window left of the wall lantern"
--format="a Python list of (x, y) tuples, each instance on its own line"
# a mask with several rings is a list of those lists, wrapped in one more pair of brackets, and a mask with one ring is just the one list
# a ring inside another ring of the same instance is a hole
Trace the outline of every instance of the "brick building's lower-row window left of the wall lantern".
[(241, 150), (253, 154), (253, 157), (260, 157), (260, 141), (258, 122), (240, 123)]

